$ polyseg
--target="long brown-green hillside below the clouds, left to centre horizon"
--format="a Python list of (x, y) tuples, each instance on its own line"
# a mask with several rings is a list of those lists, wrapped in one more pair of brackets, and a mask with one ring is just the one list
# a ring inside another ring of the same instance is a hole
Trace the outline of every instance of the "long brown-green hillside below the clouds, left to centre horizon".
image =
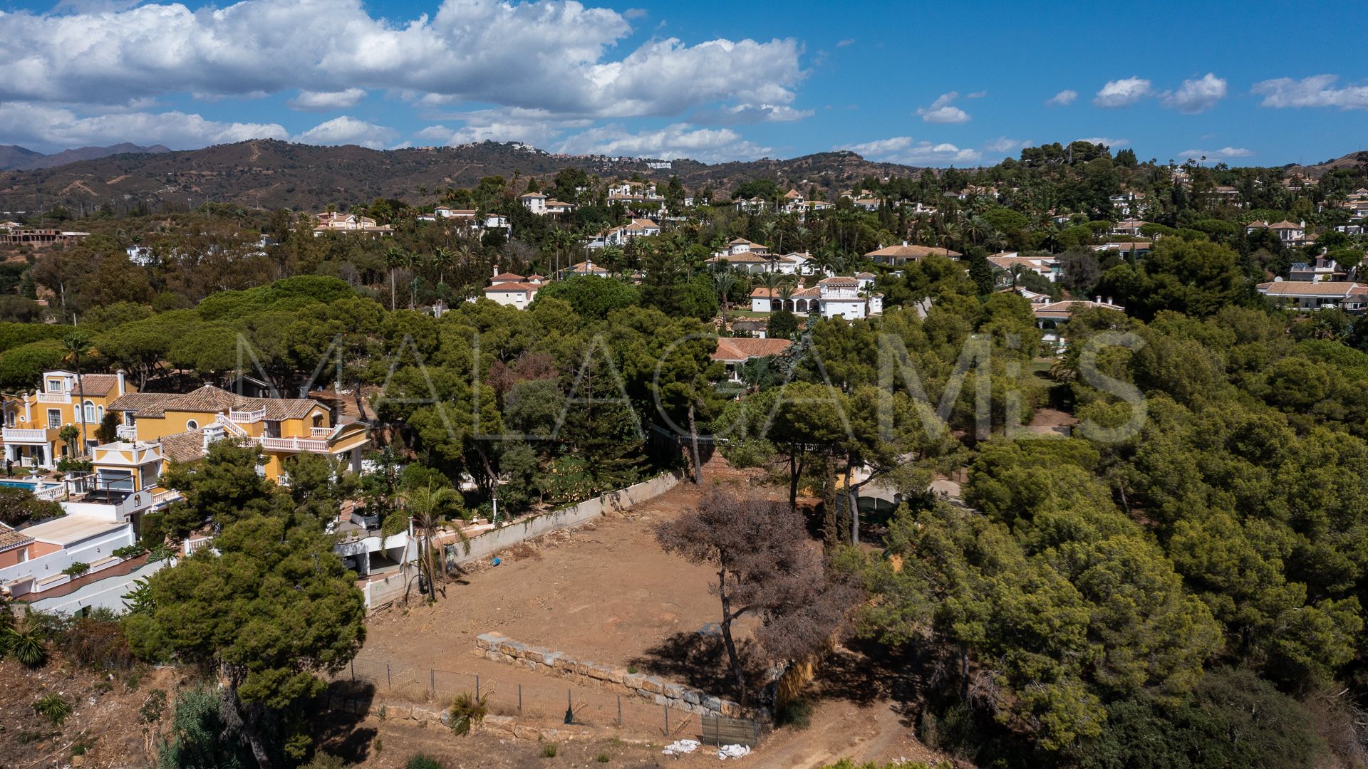
[[(164, 148), (163, 148), (164, 149)], [(780, 185), (804, 181), (833, 187), (867, 175), (912, 175), (919, 170), (896, 163), (867, 161), (854, 152), (825, 152), (792, 160), (706, 164), (676, 160), (672, 168), (651, 168), (648, 159), (550, 155), (518, 144), (483, 142), (462, 146), (375, 151), (361, 146), (312, 146), (253, 140), (204, 149), (126, 153), (81, 160), (51, 168), (0, 172), (0, 212), (38, 205), (116, 208), (146, 203), (198, 205), (237, 203), (260, 208), (346, 208), (375, 197), (436, 200), (443, 187), (473, 186), (482, 177), (550, 175), (566, 167), (601, 177), (665, 181), (672, 174), (689, 189), (728, 190), (755, 179)]]

